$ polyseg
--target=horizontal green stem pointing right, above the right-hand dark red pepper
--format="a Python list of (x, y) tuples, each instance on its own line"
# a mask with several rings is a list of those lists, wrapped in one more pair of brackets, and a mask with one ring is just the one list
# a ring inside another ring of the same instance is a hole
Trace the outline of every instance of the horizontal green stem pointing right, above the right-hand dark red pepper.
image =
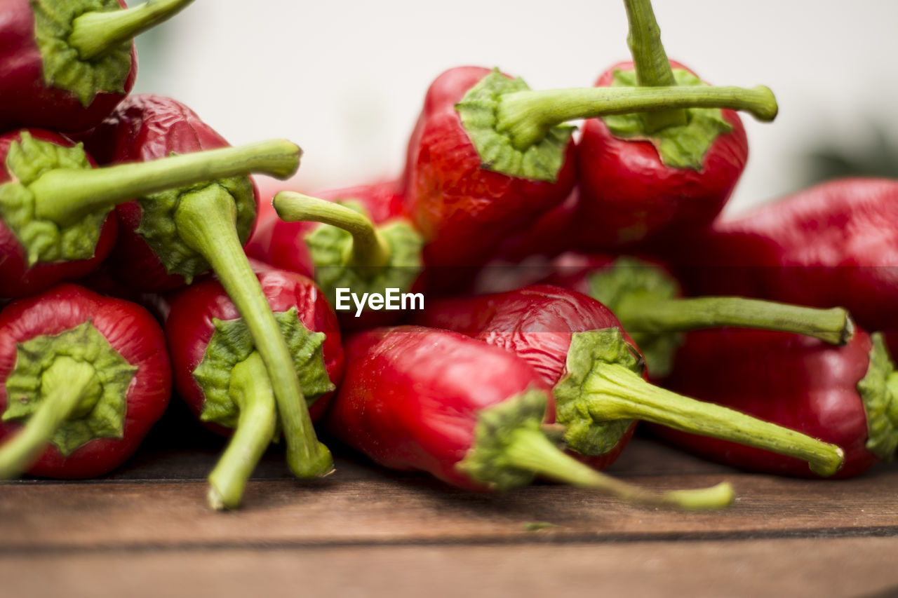
[(795, 332), (844, 345), (854, 326), (841, 307), (823, 310), (744, 297), (656, 299), (627, 296), (614, 311), (631, 334), (682, 332), (720, 326)]

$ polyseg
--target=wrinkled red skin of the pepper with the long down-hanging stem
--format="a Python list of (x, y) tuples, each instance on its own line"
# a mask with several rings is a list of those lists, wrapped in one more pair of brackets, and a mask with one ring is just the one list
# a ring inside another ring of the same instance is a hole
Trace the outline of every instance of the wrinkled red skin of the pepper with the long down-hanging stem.
[[(150, 162), (172, 153), (230, 146), (184, 104), (149, 93), (128, 96), (109, 118), (82, 138), (87, 151), (101, 164)], [(258, 189), (254, 192), (258, 207)], [(143, 215), (140, 204), (129, 201), (115, 211), (119, 240), (110, 261), (115, 277), (144, 291), (163, 292), (185, 286), (184, 277), (167, 273), (156, 253), (136, 233)]]

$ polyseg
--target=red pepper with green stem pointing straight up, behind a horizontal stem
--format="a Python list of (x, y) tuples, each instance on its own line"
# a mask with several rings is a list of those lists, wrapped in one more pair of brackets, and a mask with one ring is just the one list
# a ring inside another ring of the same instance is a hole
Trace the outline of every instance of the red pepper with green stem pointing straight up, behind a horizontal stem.
[[(625, 0), (633, 62), (612, 66), (596, 86), (702, 85), (668, 61), (649, 0)], [(728, 107), (727, 107), (728, 108)], [(772, 119), (776, 105), (771, 104)], [(577, 144), (580, 203), (571, 220), (585, 250), (632, 246), (709, 224), (748, 158), (733, 110), (663, 110), (585, 121)]]

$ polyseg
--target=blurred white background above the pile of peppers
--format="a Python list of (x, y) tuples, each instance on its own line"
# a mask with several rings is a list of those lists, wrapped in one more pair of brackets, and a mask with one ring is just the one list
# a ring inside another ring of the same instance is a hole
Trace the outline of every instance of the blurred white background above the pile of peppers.
[[(802, 186), (814, 148), (895, 140), (896, 0), (656, 0), (655, 11), (669, 57), (711, 83), (777, 94), (776, 121), (743, 117), (751, 154), (727, 209)], [(620, 0), (196, 0), (139, 40), (136, 92), (185, 102), (233, 144), (288, 137), (305, 151), (305, 190), (344, 187), (401, 172), (446, 68), (591, 85), (629, 58), (626, 35)]]

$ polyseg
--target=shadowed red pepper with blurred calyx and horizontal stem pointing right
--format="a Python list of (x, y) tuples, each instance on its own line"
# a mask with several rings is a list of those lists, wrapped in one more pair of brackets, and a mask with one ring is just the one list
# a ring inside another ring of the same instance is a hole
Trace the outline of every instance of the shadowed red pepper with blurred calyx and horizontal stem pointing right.
[(804, 334), (844, 345), (854, 327), (841, 308), (820, 310), (736, 296), (682, 297), (676, 278), (656, 262), (566, 253), (544, 282), (602, 302), (620, 319), (646, 357), (652, 378), (664, 378), (682, 342), (681, 332), (742, 326)]

